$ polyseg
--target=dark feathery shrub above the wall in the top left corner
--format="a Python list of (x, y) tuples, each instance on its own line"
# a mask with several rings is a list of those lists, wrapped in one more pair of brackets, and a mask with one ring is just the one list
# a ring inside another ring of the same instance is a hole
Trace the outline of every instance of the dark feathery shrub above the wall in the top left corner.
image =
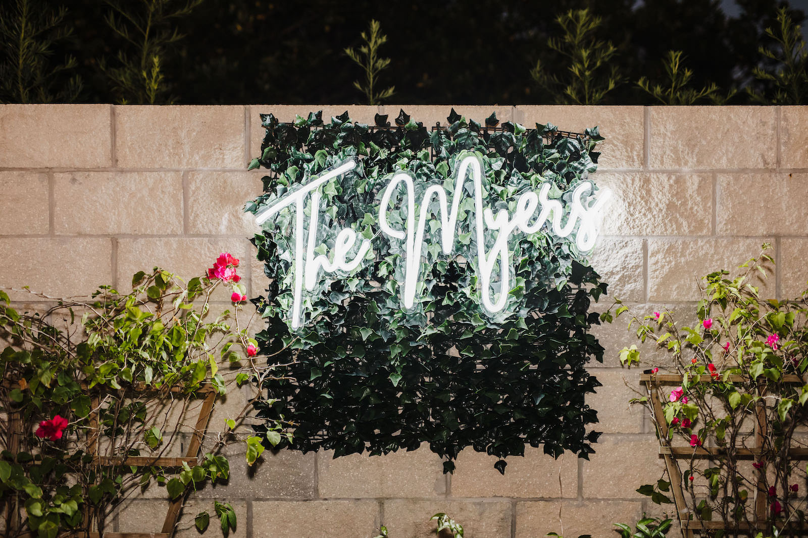
[(71, 29), (67, 8), (53, 9), (35, 0), (0, 7), (0, 102), (73, 102), (82, 90), (73, 56), (63, 64), (51, 60), (53, 49)]

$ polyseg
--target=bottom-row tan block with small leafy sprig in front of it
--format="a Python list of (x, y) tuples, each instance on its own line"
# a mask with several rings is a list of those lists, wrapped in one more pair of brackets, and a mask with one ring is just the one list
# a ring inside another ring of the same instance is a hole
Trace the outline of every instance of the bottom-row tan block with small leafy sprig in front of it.
[(392, 499), (385, 501), (384, 524), (389, 535), (395, 538), (434, 536), (437, 525), (430, 518), (441, 512), (463, 526), (464, 536), (511, 536), (511, 503), (507, 501)]

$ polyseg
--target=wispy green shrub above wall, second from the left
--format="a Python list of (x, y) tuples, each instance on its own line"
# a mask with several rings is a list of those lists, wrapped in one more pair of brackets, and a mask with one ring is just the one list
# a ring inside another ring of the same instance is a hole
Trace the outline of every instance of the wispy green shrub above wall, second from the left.
[(99, 62), (121, 104), (172, 102), (170, 86), (162, 72), (169, 46), (183, 38), (176, 19), (191, 14), (202, 0), (105, 0), (109, 6), (107, 27), (125, 46), (118, 49), (118, 66)]

